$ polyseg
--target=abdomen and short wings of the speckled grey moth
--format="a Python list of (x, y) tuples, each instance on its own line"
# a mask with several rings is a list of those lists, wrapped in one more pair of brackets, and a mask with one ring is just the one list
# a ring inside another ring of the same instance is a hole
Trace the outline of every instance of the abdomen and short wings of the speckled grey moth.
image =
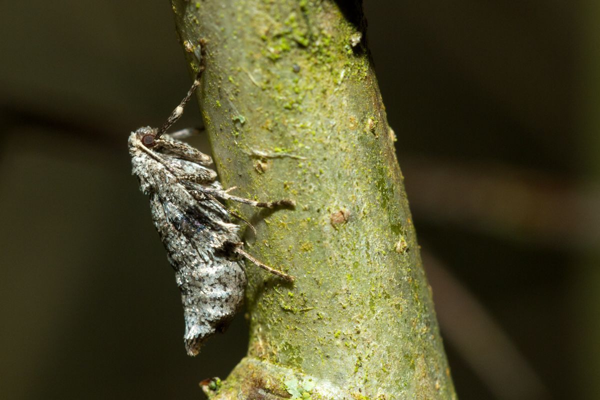
[[(179, 185), (182, 189), (182, 185)], [(236, 225), (214, 201), (153, 193), (152, 216), (175, 269), (185, 319), (185, 346), (196, 355), (202, 342), (233, 318), (244, 299), (244, 265), (223, 248), (239, 240)], [(235, 229), (234, 229), (235, 228)]]

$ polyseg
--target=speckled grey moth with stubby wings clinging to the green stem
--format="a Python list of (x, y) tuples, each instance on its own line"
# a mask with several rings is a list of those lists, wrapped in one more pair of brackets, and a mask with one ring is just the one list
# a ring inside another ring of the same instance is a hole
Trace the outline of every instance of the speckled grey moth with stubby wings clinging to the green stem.
[[(230, 222), (223, 200), (255, 207), (292, 207), (293, 200), (259, 202), (223, 190), (209, 169), (209, 155), (182, 142), (194, 130), (167, 134), (200, 85), (200, 66), (193, 85), (161, 128), (142, 127), (129, 137), (132, 173), (150, 198), (154, 226), (175, 269), (184, 307), (185, 348), (196, 356), (208, 336), (222, 332), (244, 299), (244, 258), (292, 282), (293, 276), (273, 269), (244, 251), (239, 226)], [(243, 219), (242, 219), (243, 220)], [(250, 225), (250, 224), (248, 224)], [(251, 227), (251, 225), (250, 225)]]

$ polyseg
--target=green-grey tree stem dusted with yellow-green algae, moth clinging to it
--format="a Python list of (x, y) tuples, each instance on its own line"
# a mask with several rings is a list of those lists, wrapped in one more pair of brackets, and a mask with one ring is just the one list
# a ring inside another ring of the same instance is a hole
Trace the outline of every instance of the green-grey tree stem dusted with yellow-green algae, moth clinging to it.
[[(248, 356), (215, 399), (454, 399), (360, 2), (173, 0), (224, 187), (238, 207)], [(214, 388), (214, 385), (211, 385)], [(304, 396), (304, 397), (302, 397)]]

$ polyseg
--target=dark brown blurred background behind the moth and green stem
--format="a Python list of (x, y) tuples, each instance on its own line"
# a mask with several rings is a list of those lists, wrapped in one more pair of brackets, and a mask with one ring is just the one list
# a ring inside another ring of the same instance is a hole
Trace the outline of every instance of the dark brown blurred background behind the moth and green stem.
[[(600, 398), (600, 4), (365, 3), (459, 398)], [(244, 318), (185, 354), (125, 145), (190, 84), (169, 2), (0, 18), (0, 398), (202, 398)]]

